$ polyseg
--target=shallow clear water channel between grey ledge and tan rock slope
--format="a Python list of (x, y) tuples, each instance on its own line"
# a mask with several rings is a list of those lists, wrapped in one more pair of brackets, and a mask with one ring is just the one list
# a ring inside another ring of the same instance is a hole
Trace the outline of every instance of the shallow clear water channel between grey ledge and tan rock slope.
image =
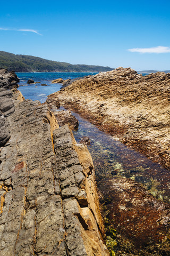
[(111, 135), (100, 131), (79, 114), (72, 114), (79, 120), (78, 131), (73, 132), (75, 140), (79, 142), (83, 136), (90, 138), (91, 145), (88, 149), (94, 161), (97, 180), (103, 176), (130, 178), (142, 183), (156, 198), (170, 202), (168, 170), (114, 140)]

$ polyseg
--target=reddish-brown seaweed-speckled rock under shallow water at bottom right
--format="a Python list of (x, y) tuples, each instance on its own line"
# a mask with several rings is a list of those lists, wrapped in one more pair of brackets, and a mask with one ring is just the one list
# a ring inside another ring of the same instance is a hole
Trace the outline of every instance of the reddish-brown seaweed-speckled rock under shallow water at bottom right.
[(108, 243), (114, 241), (116, 255), (169, 255), (168, 204), (131, 179), (103, 177), (98, 188)]

